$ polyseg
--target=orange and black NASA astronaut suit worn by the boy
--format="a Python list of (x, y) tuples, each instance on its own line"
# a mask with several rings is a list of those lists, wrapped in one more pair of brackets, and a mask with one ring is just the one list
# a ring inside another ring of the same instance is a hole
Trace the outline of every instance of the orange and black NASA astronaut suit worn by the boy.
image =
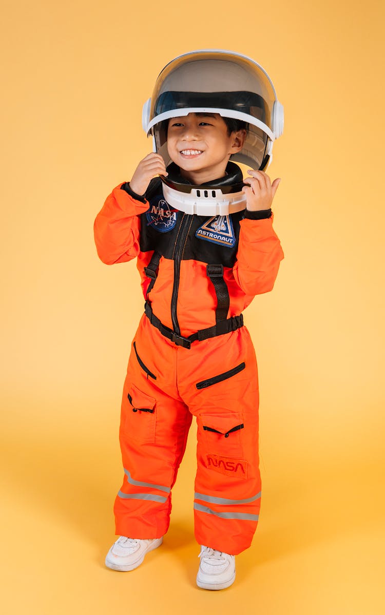
[[(227, 172), (224, 181), (242, 181), (234, 163)], [(167, 531), (194, 415), (196, 539), (236, 555), (260, 509), (258, 376), (242, 310), (272, 289), (283, 258), (271, 210), (189, 215), (170, 207), (159, 180), (145, 197), (124, 183), (98, 213), (95, 242), (106, 264), (137, 258), (146, 298), (124, 383), (116, 533)]]

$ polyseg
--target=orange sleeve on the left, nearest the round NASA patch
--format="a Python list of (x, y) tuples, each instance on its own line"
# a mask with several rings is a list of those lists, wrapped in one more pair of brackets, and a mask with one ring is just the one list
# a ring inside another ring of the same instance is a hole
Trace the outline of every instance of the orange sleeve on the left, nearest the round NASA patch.
[(140, 214), (148, 210), (148, 202), (133, 199), (122, 184), (116, 186), (93, 224), (98, 256), (103, 263), (125, 263), (140, 252)]

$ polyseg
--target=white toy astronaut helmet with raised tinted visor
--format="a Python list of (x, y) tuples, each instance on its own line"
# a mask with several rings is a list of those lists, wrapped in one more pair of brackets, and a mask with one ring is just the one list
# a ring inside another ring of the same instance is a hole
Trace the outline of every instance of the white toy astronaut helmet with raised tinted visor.
[[(262, 171), (270, 164), (273, 142), (284, 129), (284, 109), (266, 71), (251, 58), (231, 51), (204, 49), (180, 55), (157, 77), (153, 96), (143, 106), (142, 122), (166, 167), (171, 162), (166, 121), (189, 113), (218, 113), (246, 122), (244, 145), (230, 161)], [(246, 207), (239, 177), (233, 185), (210, 182), (209, 189), (183, 183), (170, 172), (161, 180), (167, 202), (186, 213), (227, 215)]]

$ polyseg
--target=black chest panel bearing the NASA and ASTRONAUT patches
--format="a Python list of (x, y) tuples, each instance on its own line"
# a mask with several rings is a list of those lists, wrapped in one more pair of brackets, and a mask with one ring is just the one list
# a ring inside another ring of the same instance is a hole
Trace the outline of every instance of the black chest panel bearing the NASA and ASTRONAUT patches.
[(233, 267), (244, 212), (211, 218), (189, 215), (170, 207), (161, 187), (149, 198), (148, 212), (141, 214), (141, 252), (155, 250), (164, 258), (173, 259), (181, 222), (186, 218), (189, 231), (181, 259)]

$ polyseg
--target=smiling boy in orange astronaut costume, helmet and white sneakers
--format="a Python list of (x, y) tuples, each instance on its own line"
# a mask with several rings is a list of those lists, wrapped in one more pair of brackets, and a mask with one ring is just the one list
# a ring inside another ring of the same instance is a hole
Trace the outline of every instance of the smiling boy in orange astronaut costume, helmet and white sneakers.
[(167, 65), (144, 115), (156, 151), (95, 220), (101, 260), (137, 257), (146, 298), (122, 399), (121, 537), (106, 566), (137, 568), (162, 543), (194, 415), (197, 585), (218, 590), (234, 582), (260, 509), (258, 376), (241, 312), (272, 289), (283, 258), (271, 224), (280, 180), (263, 171), (283, 113), (259, 65), (209, 51)]

